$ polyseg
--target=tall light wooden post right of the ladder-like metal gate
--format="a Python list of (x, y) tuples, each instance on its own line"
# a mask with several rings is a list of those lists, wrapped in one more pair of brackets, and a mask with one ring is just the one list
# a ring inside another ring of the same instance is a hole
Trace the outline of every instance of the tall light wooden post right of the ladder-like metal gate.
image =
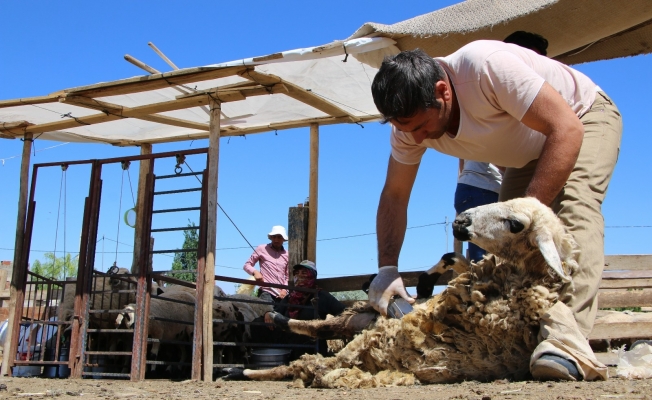
[[(208, 215), (206, 227), (206, 265), (203, 279), (203, 353), (204, 381), (213, 380), (213, 288), (215, 287), (215, 247), (217, 242), (217, 168), (220, 156), (220, 111), (219, 101), (210, 98), (210, 128), (208, 139)], [(198, 327), (195, 327), (198, 329)]]

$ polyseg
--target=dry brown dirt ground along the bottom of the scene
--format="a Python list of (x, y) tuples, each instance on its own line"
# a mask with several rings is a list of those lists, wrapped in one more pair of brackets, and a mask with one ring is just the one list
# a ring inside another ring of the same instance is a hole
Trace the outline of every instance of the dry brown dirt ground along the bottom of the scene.
[[(613, 375), (614, 371), (610, 371)], [(6, 390), (4, 389), (6, 385)], [(304, 389), (284, 382), (129, 382), (106, 379), (0, 378), (0, 399), (652, 399), (652, 380), (606, 382), (464, 382), (375, 389)]]

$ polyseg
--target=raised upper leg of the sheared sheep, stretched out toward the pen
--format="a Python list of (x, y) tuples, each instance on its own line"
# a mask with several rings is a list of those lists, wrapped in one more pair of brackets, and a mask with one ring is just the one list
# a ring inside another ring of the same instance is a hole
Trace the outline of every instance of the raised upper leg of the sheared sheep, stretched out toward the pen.
[(374, 312), (343, 314), (327, 320), (302, 321), (272, 312), (274, 325), (290, 332), (319, 339), (350, 339), (362, 332), (378, 316)]

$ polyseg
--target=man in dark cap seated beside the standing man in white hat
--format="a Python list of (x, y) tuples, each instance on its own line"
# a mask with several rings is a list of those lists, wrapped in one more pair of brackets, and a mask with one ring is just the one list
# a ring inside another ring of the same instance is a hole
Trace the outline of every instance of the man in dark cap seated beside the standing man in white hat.
[[(312, 261), (304, 260), (292, 267), (294, 275), (294, 286), (300, 288), (316, 289), (318, 293), (310, 293), (299, 290), (292, 290), (290, 294), (283, 298), (274, 306), (274, 311), (288, 318), (310, 320), (326, 319), (328, 314), (339, 315), (344, 311), (344, 304), (333, 297), (332, 294), (321, 290), (315, 284), (317, 279), (317, 267)], [(297, 307), (312, 306), (313, 299), (317, 297), (317, 315), (314, 307)], [(260, 318), (262, 320), (263, 318)], [(265, 314), (265, 322), (273, 323), (271, 313)], [(261, 321), (262, 322), (262, 321)], [(269, 330), (271, 330), (271, 332)], [(272, 326), (251, 326), (252, 341), (257, 343), (276, 343), (276, 344), (314, 344), (314, 339), (308, 336), (297, 335), (290, 332), (283, 332), (279, 328)], [(299, 358), (302, 354), (313, 353), (309, 348), (292, 349), (292, 360)], [(326, 355), (326, 341), (319, 340), (319, 353)]]

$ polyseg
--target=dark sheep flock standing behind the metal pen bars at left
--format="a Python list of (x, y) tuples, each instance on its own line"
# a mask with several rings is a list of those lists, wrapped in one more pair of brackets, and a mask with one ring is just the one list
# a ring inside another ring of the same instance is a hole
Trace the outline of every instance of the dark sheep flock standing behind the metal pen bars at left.
[[(136, 280), (125, 268), (114, 268), (109, 273), (94, 277), (90, 300), (89, 327), (102, 329), (98, 336), (91, 337), (90, 348), (101, 351), (130, 351), (133, 335), (125, 335), (117, 329), (132, 328), (136, 321), (135, 302)], [(190, 373), (190, 353), (194, 329), (195, 303), (197, 293), (194, 288), (170, 285), (161, 287), (152, 284), (149, 306), (148, 338), (151, 350), (147, 356), (151, 366), (148, 376), (159, 377), (156, 373), (157, 361), (167, 361), (179, 365), (172, 371), (173, 376), (182, 378)], [(227, 295), (218, 286), (213, 295), (213, 338), (219, 342), (246, 343), (251, 338), (250, 326), (238, 322), (252, 322), (272, 310), (271, 305), (257, 304), (258, 298), (248, 294)], [(219, 298), (219, 299), (218, 299)], [(69, 321), (74, 314), (75, 291), (70, 288), (60, 303), (61, 318)], [(235, 322), (238, 321), (238, 322)], [(112, 329), (116, 332), (111, 332)], [(166, 344), (168, 343), (168, 344)], [(165, 354), (161, 348), (167, 348)], [(216, 356), (230, 364), (244, 362), (243, 347), (216, 347)], [(219, 359), (219, 358), (216, 358)], [(103, 360), (106, 363), (106, 360)], [(111, 361), (116, 372), (129, 372), (129, 360), (117, 363)], [(184, 367), (185, 366), (185, 367)], [(166, 375), (170, 376), (170, 368)]]

